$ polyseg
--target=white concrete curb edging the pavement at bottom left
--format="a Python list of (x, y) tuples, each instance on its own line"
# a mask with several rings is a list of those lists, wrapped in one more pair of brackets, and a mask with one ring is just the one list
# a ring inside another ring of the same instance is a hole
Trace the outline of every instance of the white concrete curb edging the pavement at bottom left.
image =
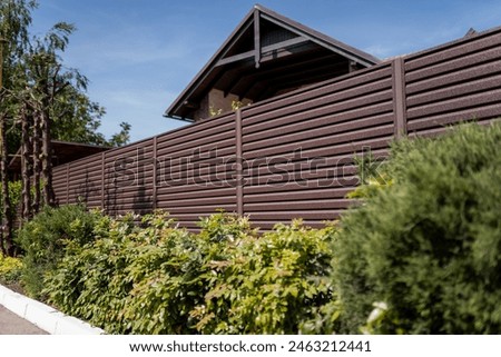
[(104, 335), (78, 318), (67, 316), (40, 301), (30, 299), (0, 285), (0, 305), (46, 330), (50, 335)]

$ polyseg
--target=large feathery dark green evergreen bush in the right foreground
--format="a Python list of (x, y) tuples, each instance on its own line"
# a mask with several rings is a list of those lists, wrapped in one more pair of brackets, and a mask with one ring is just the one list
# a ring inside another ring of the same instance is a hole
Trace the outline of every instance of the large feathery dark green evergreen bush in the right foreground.
[[(348, 333), (501, 331), (501, 125), (401, 140), (391, 185), (342, 217), (334, 285)], [(377, 314), (375, 314), (377, 315)]]

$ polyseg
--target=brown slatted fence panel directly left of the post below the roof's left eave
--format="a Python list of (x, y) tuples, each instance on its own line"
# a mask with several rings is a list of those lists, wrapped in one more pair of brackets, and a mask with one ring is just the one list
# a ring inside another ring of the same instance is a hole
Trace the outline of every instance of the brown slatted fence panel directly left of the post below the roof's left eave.
[(194, 228), (217, 209), (236, 210), (235, 115), (157, 138), (157, 208)]

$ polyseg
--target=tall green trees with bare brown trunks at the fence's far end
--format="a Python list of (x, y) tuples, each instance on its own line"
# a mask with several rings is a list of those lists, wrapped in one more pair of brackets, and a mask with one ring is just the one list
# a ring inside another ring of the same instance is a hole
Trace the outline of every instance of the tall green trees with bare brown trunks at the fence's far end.
[(29, 219), (41, 204), (55, 205), (52, 140), (100, 146), (122, 146), (129, 140), (130, 125), (126, 122), (109, 140), (98, 132), (105, 109), (87, 96), (88, 79), (63, 63), (62, 54), (75, 26), (60, 22), (43, 37), (30, 37), (28, 28), (37, 6), (37, 1), (27, 0), (0, 2), (0, 38), (6, 40), (1, 60), (4, 81), (0, 91), (3, 227), (0, 246), (3, 249), (4, 237), (7, 250), (12, 250), (13, 219), (9, 215), (9, 155), (21, 148), (21, 214)]

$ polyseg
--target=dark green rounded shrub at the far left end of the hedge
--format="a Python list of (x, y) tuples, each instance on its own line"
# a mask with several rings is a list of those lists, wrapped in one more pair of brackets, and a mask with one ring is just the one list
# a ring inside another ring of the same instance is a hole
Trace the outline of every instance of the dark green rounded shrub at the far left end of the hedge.
[(45, 207), (18, 232), (23, 250), (22, 284), (28, 295), (43, 299), (43, 277), (56, 269), (69, 242), (84, 245), (94, 239), (94, 227), (100, 214), (84, 206)]

